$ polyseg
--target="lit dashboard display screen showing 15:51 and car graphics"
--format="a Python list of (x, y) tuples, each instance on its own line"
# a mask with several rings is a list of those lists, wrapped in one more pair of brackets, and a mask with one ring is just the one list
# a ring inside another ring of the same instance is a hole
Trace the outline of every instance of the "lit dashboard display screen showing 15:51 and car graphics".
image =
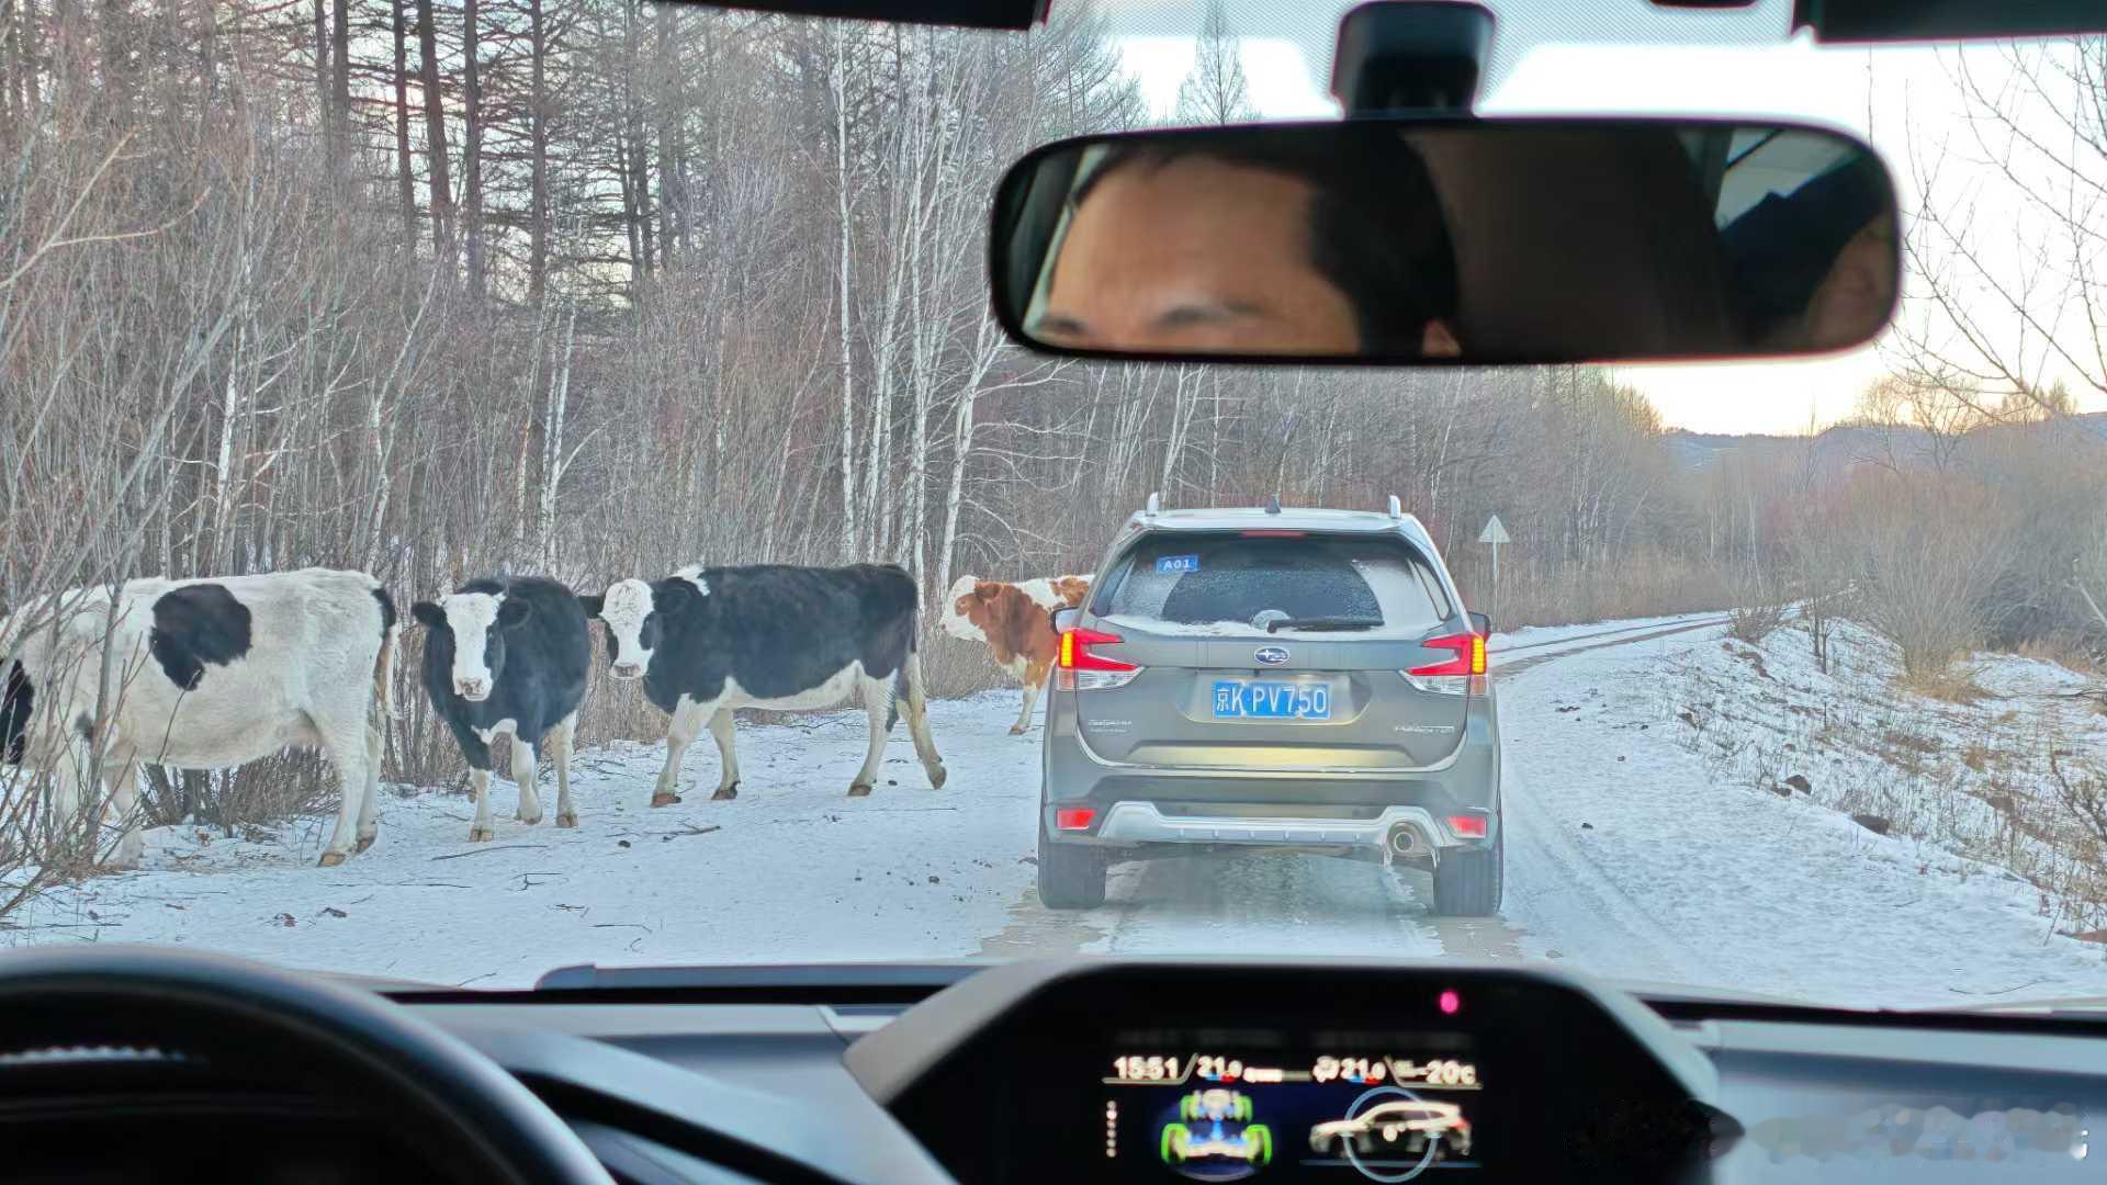
[(1098, 1080), (1117, 1181), (1471, 1181), (1500, 1139), (1460, 1031), (1125, 1031)]

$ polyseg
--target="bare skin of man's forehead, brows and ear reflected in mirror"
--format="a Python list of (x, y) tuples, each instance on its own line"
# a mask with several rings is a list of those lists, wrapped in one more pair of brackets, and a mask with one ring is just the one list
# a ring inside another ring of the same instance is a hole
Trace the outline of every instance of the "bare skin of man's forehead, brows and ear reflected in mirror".
[[(1209, 156), (1115, 169), (1068, 226), (1035, 333), (1100, 350), (1361, 350), (1353, 302), (1311, 259), (1315, 186)], [(1429, 323), (1424, 352), (1454, 356)]]

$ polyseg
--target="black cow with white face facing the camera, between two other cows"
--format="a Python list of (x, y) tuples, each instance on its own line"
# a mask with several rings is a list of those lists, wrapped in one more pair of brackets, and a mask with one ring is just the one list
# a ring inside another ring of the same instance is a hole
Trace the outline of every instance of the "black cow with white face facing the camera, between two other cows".
[(491, 744), (512, 736), (518, 820), (541, 822), (537, 755), (556, 761), (556, 827), (577, 827), (571, 810), (571, 740), (586, 698), (592, 633), (577, 597), (539, 576), (470, 580), (451, 597), (417, 601), (428, 626), (424, 694), (432, 698), (468, 759), (476, 786), (470, 839), (491, 833)]

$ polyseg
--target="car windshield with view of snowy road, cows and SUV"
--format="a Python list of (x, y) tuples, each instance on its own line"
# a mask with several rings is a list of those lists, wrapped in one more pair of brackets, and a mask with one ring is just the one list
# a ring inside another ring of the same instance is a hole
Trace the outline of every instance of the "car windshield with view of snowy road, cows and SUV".
[[(1003, 337), (1011, 160), (1332, 116), (1342, 8), (8, 8), (0, 945), (2107, 997), (2107, 46), (1500, 4), (1488, 114), (1869, 137), (1907, 274), (1865, 350)], [(1721, 234), (1820, 280), (1755, 211), (1825, 162), (1734, 152)], [(1273, 500), (1367, 538), (1136, 525)], [(1127, 858), (1203, 831), (1243, 848)]]

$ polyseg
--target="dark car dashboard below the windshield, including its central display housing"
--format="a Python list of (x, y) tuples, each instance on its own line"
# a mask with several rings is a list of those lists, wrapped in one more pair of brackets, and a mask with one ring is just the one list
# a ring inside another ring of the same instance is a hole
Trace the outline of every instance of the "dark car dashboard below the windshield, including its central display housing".
[[(1641, 1002), (1540, 970), (1330, 959), (386, 991), (636, 1185), (2107, 1179), (2107, 1025), (2086, 1014)], [(434, 1149), (358, 1099), (223, 1069), (181, 1033), (116, 1061), (0, 1050), (8, 1179), (436, 1177), (417, 1170)], [(257, 1139), (185, 1139), (200, 1126)]]

